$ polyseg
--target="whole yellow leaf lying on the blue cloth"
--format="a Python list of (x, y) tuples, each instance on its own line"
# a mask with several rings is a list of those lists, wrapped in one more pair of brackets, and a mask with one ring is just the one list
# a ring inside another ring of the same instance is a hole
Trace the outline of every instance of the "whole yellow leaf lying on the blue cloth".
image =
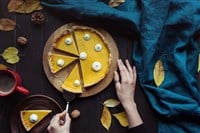
[(153, 77), (156, 86), (159, 87), (165, 78), (165, 71), (161, 60), (158, 60), (154, 66)]

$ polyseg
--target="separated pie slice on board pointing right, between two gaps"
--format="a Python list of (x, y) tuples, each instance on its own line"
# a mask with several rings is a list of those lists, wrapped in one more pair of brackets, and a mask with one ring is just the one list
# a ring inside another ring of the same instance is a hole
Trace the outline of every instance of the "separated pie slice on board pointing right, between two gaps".
[(48, 53), (48, 62), (52, 73), (60, 71), (77, 59), (77, 57), (73, 56)]

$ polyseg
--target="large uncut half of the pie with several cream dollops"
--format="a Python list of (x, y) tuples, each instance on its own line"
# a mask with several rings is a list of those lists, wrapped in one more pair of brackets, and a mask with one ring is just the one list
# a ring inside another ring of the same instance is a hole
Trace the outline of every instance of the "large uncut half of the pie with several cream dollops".
[(84, 87), (102, 80), (109, 71), (110, 51), (103, 36), (93, 29), (75, 29)]

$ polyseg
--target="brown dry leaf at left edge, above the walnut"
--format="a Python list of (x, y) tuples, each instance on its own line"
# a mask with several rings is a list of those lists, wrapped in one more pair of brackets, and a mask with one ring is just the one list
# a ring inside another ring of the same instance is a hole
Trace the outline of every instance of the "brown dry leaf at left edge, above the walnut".
[(11, 31), (16, 27), (16, 22), (8, 18), (0, 18), (0, 30)]

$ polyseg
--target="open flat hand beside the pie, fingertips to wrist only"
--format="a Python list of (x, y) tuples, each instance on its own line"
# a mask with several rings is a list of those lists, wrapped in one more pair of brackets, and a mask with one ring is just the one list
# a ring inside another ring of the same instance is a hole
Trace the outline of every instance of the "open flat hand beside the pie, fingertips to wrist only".
[(126, 108), (129, 105), (135, 104), (134, 95), (137, 74), (135, 66), (132, 68), (128, 60), (125, 61), (126, 66), (121, 59), (117, 63), (120, 76), (118, 72), (114, 72), (115, 88), (121, 104)]

